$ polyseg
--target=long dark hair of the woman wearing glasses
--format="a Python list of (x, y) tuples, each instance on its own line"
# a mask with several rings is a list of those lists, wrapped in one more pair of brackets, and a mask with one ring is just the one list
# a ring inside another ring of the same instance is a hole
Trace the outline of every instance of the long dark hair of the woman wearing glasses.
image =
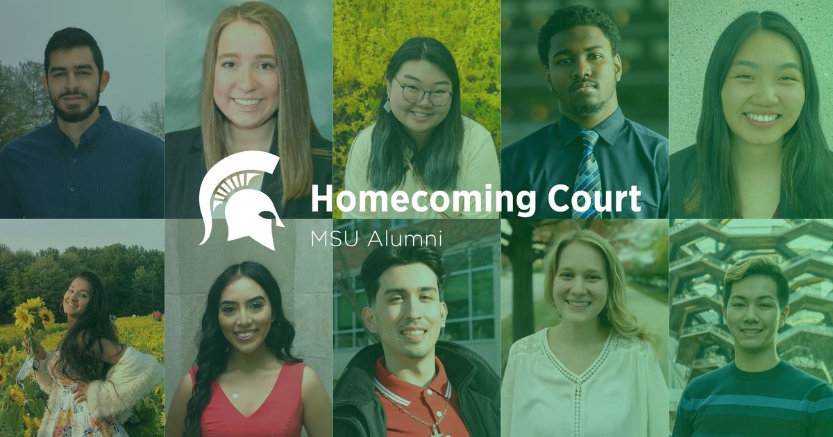
[(382, 92), (376, 127), (373, 127), (370, 159), (367, 162), (367, 178), (376, 190), (388, 191), (405, 181), (408, 167), (403, 158), (404, 153), (412, 156), (416, 172), (432, 190), (449, 191), (456, 186), (464, 132), (460, 77), (451, 52), (434, 38), (411, 38), (399, 47), (387, 63), (385, 79), (392, 82), (403, 63), (419, 60), (431, 62), (451, 78), (451, 107), (446, 118), (434, 127), (426, 144), (417, 149), (416, 140), (408, 134), (397, 117), (385, 111), (387, 95)]

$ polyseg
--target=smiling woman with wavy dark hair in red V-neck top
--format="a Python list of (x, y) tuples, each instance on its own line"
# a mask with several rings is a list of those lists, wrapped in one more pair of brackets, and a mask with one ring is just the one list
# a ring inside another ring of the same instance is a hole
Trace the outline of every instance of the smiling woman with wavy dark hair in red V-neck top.
[(332, 435), (332, 406), (315, 370), (292, 355), (295, 328), (281, 289), (253, 261), (229, 266), (211, 290), (196, 366), (182, 377), (165, 427), (171, 437)]

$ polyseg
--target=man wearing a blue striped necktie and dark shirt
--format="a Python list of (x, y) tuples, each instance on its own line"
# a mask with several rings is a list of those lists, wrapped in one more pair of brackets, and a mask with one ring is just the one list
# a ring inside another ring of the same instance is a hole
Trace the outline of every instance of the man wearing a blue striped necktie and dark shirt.
[(501, 188), (535, 191), (531, 218), (668, 217), (668, 139), (622, 113), (620, 43), (593, 7), (559, 9), (541, 27), (538, 54), (561, 117), (501, 152)]

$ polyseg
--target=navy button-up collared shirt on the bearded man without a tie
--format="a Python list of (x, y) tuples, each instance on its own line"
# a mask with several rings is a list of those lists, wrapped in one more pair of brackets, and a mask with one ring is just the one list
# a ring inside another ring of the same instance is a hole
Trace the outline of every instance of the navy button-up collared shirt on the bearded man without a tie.
[(0, 151), (0, 218), (164, 218), (162, 140), (98, 110), (77, 147), (52, 116)]

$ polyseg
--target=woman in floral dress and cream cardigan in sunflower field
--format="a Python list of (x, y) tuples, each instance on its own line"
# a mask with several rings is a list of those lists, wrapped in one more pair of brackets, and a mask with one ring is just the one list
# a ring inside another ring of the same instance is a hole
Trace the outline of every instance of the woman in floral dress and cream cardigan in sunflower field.
[(78, 274), (61, 308), (67, 335), (52, 353), (37, 345), (32, 364), (37, 384), (49, 393), (38, 437), (126, 436), (122, 422), (137, 400), (162, 381), (162, 365), (118, 343), (107, 294), (94, 273)]

